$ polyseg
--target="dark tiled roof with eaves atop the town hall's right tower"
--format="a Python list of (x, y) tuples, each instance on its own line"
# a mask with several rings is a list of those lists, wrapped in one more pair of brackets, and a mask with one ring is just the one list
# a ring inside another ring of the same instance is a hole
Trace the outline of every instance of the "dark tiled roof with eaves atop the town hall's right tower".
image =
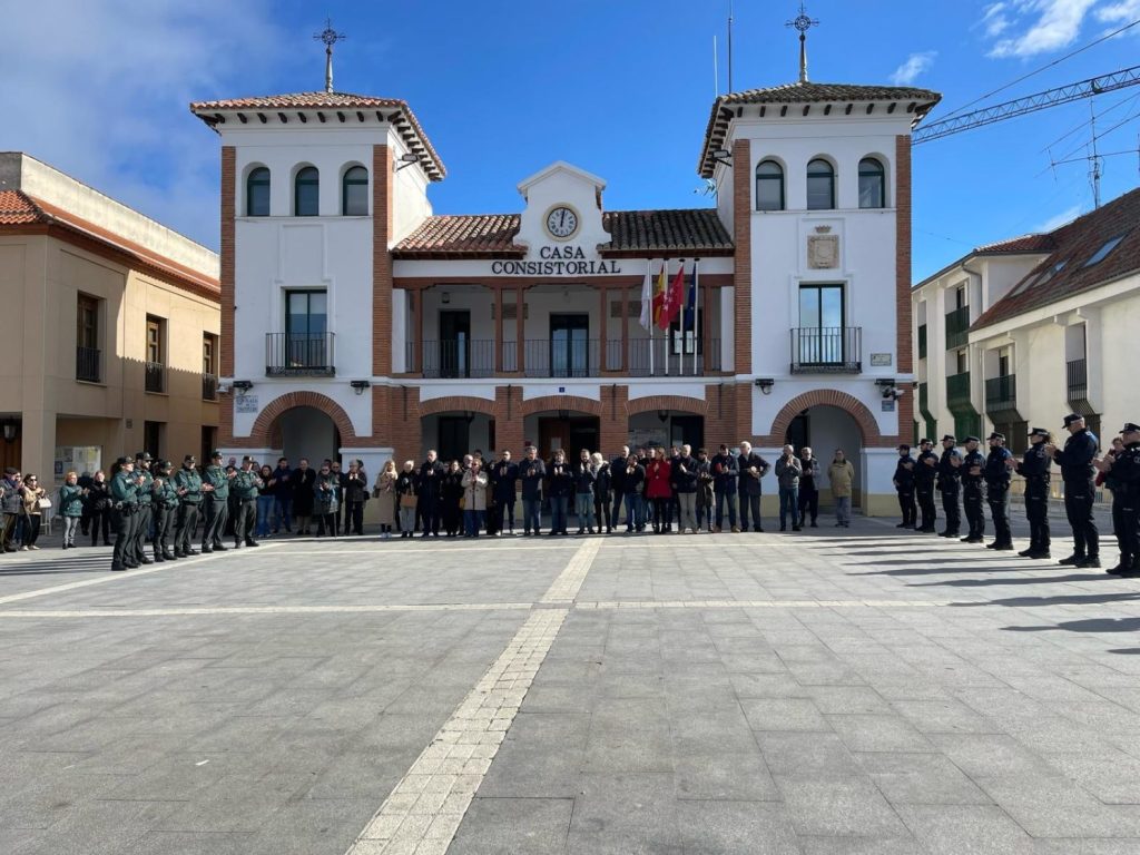
[[(891, 101), (903, 106), (904, 115), (910, 113), (913, 119), (911, 127), (918, 124), (930, 112), (942, 96), (929, 89), (914, 87), (856, 85), (853, 83), (785, 83), (766, 89), (746, 89), (741, 92), (730, 92), (719, 96), (712, 103), (709, 123), (705, 130), (705, 147), (697, 164), (697, 172), (702, 178), (711, 178), (716, 169), (712, 152), (723, 148), (728, 133), (728, 124), (743, 109), (744, 105), (759, 104), (871, 104)], [(763, 109), (762, 109), (763, 112)]]

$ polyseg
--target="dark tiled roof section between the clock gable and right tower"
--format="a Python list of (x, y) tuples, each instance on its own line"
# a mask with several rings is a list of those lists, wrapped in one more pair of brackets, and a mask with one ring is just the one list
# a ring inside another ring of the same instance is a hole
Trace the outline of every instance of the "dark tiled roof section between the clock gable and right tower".
[(711, 207), (674, 211), (606, 211), (602, 225), (609, 244), (602, 255), (646, 252), (702, 252), (731, 255), (732, 237)]

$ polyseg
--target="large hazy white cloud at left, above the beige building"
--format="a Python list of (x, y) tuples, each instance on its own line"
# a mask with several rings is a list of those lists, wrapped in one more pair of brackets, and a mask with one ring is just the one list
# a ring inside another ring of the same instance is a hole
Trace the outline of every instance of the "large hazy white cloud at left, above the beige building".
[[(188, 104), (263, 95), (267, 70), (296, 60), (269, 0), (122, 8), (116, 0), (9, 5), (0, 150), (26, 152), (217, 246), (218, 138)], [(315, 81), (321, 60), (312, 59)]]

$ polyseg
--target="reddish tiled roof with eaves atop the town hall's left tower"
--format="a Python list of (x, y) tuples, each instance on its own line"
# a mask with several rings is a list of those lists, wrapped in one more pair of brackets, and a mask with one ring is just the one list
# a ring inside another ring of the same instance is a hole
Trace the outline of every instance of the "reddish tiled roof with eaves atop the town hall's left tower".
[(420, 155), (420, 163), (432, 181), (442, 181), (447, 176), (443, 161), (435, 153), (431, 140), (420, 125), (420, 120), (412, 112), (408, 103), (400, 98), (374, 98), (368, 95), (351, 92), (292, 92), (287, 95), (267, 95), (254, 98), (223, 98), (213, 101), (194, 101), (190, 112), (211, 128), (226, 121), (225, 113), (242, 113), (243, 111), (282, 112), (296, 111), (396, 111), (384, 116), (400, 131), (410, 150)]

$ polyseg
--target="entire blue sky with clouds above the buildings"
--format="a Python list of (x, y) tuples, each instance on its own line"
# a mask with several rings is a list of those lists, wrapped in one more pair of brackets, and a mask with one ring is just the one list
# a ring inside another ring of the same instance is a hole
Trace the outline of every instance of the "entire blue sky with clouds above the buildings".
[[(733, 88), (795, 80), (795, 0), (735, 0)], [(192, 8), (187, 8), (192, 7)], [(0, 150), (22, 149), (211, 247), (218, 138), (192, 99), (311, 91), (324, 16), (348, 34), (336, 89), (407, 99), (448, 166), (437, 213), (516, 211), (520, 179), (565, 160), (605, 178), (610, 209), (711, 204), (695, 164), (727, 90), (727, 0), (41, 0), (6, 9)], [(813, 0), (821, 82), (943, 92), (931, 121), (1140, 18), (1140, 0)], [(1140, 62), (1140, 26), (994, 100)], [(1092, 101), (1140, 146), (1140, 87)], [(970, 247), (1051, 228), (1092, 206), (1090, 101), (915, 148), (914, 275)], [(1072, 132), (1072, 133), (1070, 133)], [(1064, 135), (1069, 136), (1064, 137)], [(1060, 141), (1058, 138), (1064, 137)], [(1105, 161), (1102, 198), (1140, 182), (1140, 156)]]

